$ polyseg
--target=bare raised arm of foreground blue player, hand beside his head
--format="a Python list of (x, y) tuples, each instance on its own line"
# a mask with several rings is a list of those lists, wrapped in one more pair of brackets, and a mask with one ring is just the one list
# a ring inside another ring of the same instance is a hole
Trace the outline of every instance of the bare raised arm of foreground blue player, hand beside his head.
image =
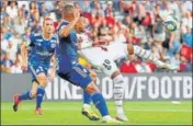
[(67, 37), (70, 32), (73, 30), (76, 23), (78, 22), (79, 18), (80, 18), (80, 12), (78, 9), (75, 9), (75, 12), (73, 12), (73, 21), (71, 21), (67, 26), (63, 27), (60, 31), (59, 31), (59, 35), (61, 37)]

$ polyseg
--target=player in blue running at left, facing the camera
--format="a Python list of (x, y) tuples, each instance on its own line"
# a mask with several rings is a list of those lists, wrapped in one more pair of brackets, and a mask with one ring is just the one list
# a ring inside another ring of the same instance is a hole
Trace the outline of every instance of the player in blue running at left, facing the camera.
[[(26, 59), (27, 45), (21, 47), (21, 55), (23, 58), (23, 67), (29, 64), (29, 70), (32, 73), (32, 89), (23, 94), (14, 94), (13, 111), (16, 112), (19, 104), (24, 100), (33, 100), (36, 98), (35, 114), (42, 115), (42, 102), (45, 94), (45, 87), (48, 83), (48, 70), (50, 60), (55, 57), (57, 47), (57, 37), (54, 33), (54, 22), (52, 19), (46, 18), (43, 23), (43, 33), (32, 34), (30, 37), (30, 53)], [(27, 60), (27, 61), (26, 61)], [(55, 72), (55, 66), (53, 66)]]

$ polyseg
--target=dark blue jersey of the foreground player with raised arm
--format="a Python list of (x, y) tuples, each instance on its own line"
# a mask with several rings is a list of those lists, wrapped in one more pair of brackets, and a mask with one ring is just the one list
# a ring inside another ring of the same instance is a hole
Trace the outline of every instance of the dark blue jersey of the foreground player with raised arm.
[(67, 37), (60, 36), (60, 32), (69, 23), (67, 21), (61, 21), (58, 28), (58, 55), (59, 55), (59, 70), (69, 71), (73, 65), (78, 62), (77, 58), (77, 33), (71, 31)]

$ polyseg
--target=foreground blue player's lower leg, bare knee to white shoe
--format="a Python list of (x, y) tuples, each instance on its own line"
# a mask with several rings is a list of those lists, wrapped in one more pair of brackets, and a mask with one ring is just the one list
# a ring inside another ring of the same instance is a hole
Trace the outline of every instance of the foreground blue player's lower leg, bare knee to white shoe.
[(95, 107), (100, 111), (102, 115), (103, 123), (121, 123), (110, 116), (105, 100), (99, 92), (99, 89), (96, 88), (93, 81), (87, 85), (84, 91), (91, 94)]

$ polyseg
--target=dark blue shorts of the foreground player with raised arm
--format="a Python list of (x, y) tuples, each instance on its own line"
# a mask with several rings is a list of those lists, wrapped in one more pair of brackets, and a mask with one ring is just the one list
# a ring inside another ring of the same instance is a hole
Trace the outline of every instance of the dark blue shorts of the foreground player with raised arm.
[(76, 64), (69, 71), (59, 70), (57, 75), (70, 83), (83, 89), (86, 89), (87, 85), (92, 82), (89, 70), (82, 67), (80, 64)]

